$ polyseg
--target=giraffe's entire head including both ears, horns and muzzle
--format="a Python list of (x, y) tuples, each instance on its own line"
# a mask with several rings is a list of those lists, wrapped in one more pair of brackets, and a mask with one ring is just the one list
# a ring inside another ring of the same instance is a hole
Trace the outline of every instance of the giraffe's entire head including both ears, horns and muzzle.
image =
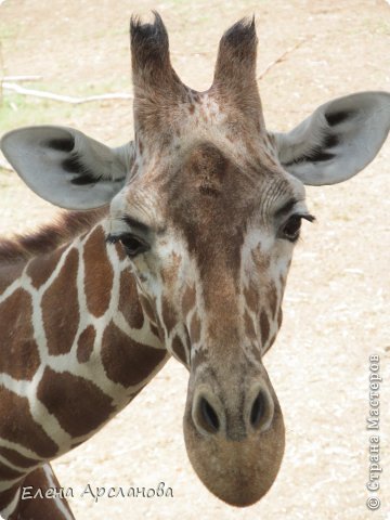
[(321, 106), (289, 133), (268, 133), (256, 47), (253, 22), (235, 24), (212, 86), (195, 92), (171, 66), (160, 17), (133, 20), (130, 145), (110, 150), (54, 127), (2, 141), (44, 198), (77, 209), (110, 203), (108, 240), (122, 244), (145, 314), (190, 370), (188, 457), (207, 487), (236, 506), (268, 492), (283, 457), (282, 411), (262, 356), (282, 323), (301, 222), (313, 220), (303, 184), (355, 174), (390, 120), (389, 94), (362, 93)]

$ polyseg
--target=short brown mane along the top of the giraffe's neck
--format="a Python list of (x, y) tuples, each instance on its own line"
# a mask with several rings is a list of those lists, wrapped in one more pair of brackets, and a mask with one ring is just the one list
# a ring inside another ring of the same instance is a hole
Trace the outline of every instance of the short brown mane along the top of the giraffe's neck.
[(46, 255), (90, 230), (108, 214), (108, 206), (92, 211), (64, 211), (29, 234), (0, 239), (0, 265)]

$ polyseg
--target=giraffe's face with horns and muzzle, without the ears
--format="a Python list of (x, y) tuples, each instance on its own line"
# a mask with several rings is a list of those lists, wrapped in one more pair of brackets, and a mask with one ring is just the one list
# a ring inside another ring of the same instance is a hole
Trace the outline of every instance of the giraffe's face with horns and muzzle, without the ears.
[(132, 258), (167, 349), (190, 369), (184, 434), (195, 470), (219, 497), (248, 505), (283, 456), (262, 353), (281, 325), (300, 220), (311, 217), (264, 130), (253, 22), (224, 35), (203, 93), (172, 69), (158, 16), (133, 22), (131, 40), (134, 162), (110, 205), (110, 237)]

